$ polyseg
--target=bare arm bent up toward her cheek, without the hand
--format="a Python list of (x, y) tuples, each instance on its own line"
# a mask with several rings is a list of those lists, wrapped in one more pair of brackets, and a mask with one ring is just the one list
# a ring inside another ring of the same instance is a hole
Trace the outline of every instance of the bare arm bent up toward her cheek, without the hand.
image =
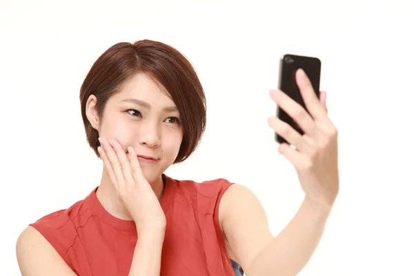
[[(162, 228), (142, 231), (128, 275), (158, 276), (163, 242)], [(17, 239), (16, 253), (22, 276), (76, 276), (55, 248), (31, 226), (23, 230)]]

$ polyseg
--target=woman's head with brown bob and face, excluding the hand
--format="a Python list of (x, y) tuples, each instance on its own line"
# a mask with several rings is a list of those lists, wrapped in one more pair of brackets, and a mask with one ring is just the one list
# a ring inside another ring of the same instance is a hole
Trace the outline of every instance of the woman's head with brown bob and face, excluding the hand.
[(103, 52), (83, 81), (80, 100), (96, 155), (101, 136), (159, 158), (148, 168), (142, 164), (147, 179), (187, 159), (206, 126), (206, 99), (195, 70), (180, 52), (157, 41), (117, 43)]

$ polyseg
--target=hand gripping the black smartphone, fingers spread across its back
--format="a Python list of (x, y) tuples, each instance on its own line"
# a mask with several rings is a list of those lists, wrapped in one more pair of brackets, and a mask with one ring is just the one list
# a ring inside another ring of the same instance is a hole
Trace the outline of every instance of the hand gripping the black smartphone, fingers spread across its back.
[(330, 209), (339, 190), (337, 129), (328, 118), (326, 93), (321, 92), (318, 99), (301, 69), (296, 72), (296, 81), (308, 112), (280, 90), (271, 90), (270, 96), (293, 118), (304, 135), (277, 117), (269, 118), (268, 124), (277, 135), (295, 146), (281, 144), (279, 152), (295, 166), (306, 197)]

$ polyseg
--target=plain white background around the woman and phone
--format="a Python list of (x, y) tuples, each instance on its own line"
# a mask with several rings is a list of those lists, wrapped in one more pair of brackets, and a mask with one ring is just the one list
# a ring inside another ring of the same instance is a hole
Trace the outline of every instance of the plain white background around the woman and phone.
[(303, 193), (267, 126), (268, 89), (284, 53), (322, 59), (341, 190), (301, 275), (414, 275), (412, 3), (239, 2), (0, 1), (0, 275), (19, 275), (23, 228), (99, 184), (79, 88), (104, 50), (139, 39), (183, 52), (206, 91), (201, 146), (168, 175), (248, 186), (275, 234)]

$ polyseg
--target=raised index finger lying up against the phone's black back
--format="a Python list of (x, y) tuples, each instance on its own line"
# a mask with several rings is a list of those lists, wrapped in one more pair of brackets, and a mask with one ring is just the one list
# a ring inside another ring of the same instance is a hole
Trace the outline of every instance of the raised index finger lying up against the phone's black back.
[(326, 110), (317, 98), (315, 90), (313, 90), (312, 83), (306, 76), (304, 70), (298, 69), (296, 71), (296, 83), (299, 87), (300, 94), (304, 99), (306, 108), (312, 117), (317, 120), (326, 121), (328, 119), (326, 116)]

